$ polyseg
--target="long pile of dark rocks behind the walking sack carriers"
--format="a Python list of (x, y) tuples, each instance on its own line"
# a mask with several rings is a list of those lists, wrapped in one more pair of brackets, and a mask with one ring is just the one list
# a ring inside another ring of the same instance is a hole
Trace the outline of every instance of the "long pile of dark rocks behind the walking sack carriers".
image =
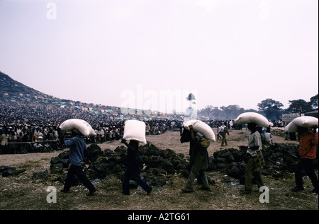
[[(152, 186), (164, 186), (170, 175), (181, 174), (186, 178), (189, 176), (189, 160), (184, 154), (177, 154), (169, 148), (162, 150), (151, 143), (140, 146), (139, 150), (145, 162), (145, 165), (141, 167), (140, 175)], [(91, 167), (84, 166), (84, 171), (89, 179), (106, 179), (109, 175), (116, 175), (121, 179), (127, 153), (125, 146), (118, 146), (114, 151), (111, 149), (102, 151), (98, 145), (92, 144), (88, 151), (92, 165)], [(274, 178), (293, 173), (300, 160), (298, 145), (294, 143), (275, 143), (271, 146), (263, 146), (262, 153), (265, 160), (262, 174), (272, 175)], [(66, 168), (69, 165), (68, 156), (68, 152), (63, 152), (57, 157), (51, 158), (50, 162), (51, 173), (61, 174), (59, 180), (62, 182), (65, 180)], [(238, 179), (240, 184), (245, 184), (245, 167), (248, 160), (245, 151), (228, 148), (216, 151), (209, 159), (211, 166), (208, 167), (208, 172), (220, 171), (229, 177)], [(318, 169), (318, 156), (313, 165)], [(208, 182), (214, 183), (211, 177), (208, 177)]]

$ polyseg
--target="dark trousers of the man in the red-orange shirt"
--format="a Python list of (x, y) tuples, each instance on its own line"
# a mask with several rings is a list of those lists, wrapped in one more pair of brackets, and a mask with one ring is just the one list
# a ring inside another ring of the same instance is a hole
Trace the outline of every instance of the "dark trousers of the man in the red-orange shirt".
[(308, 177), (311, 179), (313, 183), (313, 187), (318, 191), (318, 178), (315, 175), (315, 170), (313, 170), (313, 160), (301, 158), (299, 161), (296, 170), (295, 170), (295, 179), (296, 179), (296, 187), (303, 189), (303, 175), (301, 170), (305, 170)]

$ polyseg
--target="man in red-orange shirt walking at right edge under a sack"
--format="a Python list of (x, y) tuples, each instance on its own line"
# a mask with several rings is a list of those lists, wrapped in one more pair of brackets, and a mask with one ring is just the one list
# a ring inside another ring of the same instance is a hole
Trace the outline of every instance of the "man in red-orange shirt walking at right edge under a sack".
[(301, 160), (295, 170), (296, 187), (293, 187), (291, 191), (302, 191), (304, 189), (301, 174), (301, 170), (304, 169), (313, 183), (314, 189), (311, 192), (318, 193), (318, 178), (313, 169), (313, 160), (315, 159), (316, 146), (318, 145), (318, 134), (314, 134), (308, 128), (298, 127), (298, 139), (298, 152)]

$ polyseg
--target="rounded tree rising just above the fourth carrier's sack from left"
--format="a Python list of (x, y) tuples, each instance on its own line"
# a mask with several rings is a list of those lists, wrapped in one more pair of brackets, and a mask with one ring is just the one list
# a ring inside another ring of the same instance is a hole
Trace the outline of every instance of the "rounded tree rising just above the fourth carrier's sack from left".
[(281, 102), (269, 98), (262, 100), (262, 102), (259, 102), (257, 105), (259, 112), (271, 120), (278, 119), (278, 117), (281, 116), (281, 107), (283, 106)]

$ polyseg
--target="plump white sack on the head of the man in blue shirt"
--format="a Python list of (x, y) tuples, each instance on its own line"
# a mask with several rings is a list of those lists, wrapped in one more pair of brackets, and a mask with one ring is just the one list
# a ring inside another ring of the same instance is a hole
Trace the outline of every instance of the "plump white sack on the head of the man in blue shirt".
[(91, 125), (82, 119), (67, 119), (60, 125), (62, 131), (80, 132), (84, 136), (95, 135)]

